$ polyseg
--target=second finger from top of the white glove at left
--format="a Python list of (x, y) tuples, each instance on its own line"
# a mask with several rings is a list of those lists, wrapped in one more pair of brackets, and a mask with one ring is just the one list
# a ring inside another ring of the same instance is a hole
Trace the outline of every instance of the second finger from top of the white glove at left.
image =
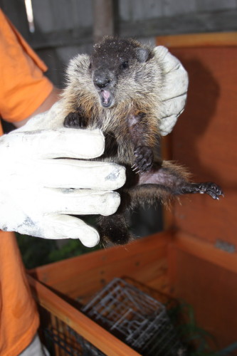
[(47, 159), (41, 164), (37, 176), (45, 187), (114, 190), (125, 184), (125, 168), (114, 163)]

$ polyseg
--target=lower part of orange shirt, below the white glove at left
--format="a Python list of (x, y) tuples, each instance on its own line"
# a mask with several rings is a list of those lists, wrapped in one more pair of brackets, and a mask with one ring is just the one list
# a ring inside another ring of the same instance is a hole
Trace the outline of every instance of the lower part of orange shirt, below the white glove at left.
[(13, 356), (31, 343), (39, 317), (14, 233), (0, 231), (0, 242), (0, 355)]

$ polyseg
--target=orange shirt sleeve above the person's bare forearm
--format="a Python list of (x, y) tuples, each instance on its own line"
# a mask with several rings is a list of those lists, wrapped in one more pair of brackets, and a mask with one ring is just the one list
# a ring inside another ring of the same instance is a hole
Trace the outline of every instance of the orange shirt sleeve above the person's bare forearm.
[(0, 9), (0, 116), (21, 121), (30, 116), (53, 89), (46, 65)]

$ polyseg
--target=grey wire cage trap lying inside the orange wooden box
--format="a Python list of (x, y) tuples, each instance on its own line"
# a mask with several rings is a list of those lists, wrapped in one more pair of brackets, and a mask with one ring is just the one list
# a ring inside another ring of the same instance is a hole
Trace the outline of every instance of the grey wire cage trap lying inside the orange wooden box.
[(82, 311), (144, 356), (186, 355), (164, 305), (120, 278)]

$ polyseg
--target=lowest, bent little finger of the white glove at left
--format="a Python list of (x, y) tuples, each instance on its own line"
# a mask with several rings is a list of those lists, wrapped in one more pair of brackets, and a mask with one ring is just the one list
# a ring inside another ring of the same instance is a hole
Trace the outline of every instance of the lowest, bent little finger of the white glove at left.
[(48, 215), (43, 224), (46, 239), (79, 239), (87, 247), (96, 246), (100, 241), (98, 231), (74, 216)]

